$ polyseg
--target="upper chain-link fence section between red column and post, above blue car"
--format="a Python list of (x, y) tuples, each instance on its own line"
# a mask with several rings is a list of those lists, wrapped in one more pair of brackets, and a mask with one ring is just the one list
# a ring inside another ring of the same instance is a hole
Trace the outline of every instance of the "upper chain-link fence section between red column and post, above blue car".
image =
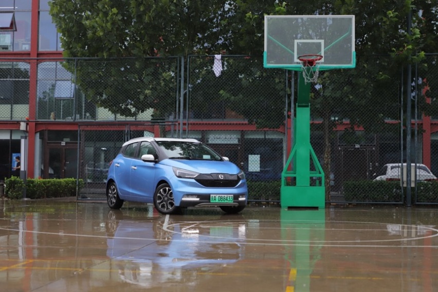
[(176, 119), (177, 58), (41, 62), (38, 119)]

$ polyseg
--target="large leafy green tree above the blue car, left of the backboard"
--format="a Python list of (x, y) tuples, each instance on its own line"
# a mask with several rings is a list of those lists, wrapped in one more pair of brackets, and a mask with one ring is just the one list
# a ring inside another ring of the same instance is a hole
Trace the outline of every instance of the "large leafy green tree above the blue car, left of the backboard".
[[(150, 108), (154, 108), (153, 117), (168, 117), (176, 103), (177, 67), (175, 64), (155, 66), (164, 61), (151, 61), (145, 56), (187, 57), (189, 54), (226, 52), (253, 53), (260, 58), (263, 52), (263, 13), (284, 13), (284, 7), (285, 3), (272, 4), (267, 1), (54, 0), (50, 3), (50, 14), (62, 33), (65, 57), (107, 60), (100, 64), (81, 61), (78, 67), (69, 67), (70, 71), (75, 71), (75, 82), (90, 101), (126, 117), (135, 117)], [(134, 57), (136, 60), (108, 60), (119, 57)], [(267, 77), (278, 72), (261, 72), (263, 68), (260, 61), (257, 66), (259, 69), (253, 70), (253, 75), (246, 73), (245, 77), (238, 79), (240, 85), (235, 82), (230, 84), (252, 90), (264, 84), (266, 88)], [(226, 80), (227, 75), (236, 76), (224, 74), (222, 80)], [(261, 78), (265, 81), (262, 82)], [(198, 84), (199, 80), (203, 84)], [(192, 85), (209, 87), (206, 83), (213, 81), (207, 77), (199, 80)], [(276, 82), (274, 86), (280, 84), (283, 83)], [(216, 96), (221, 103), (226, 103), (249, 121), (257, 122), (260, 127), (282, 124), (284, 94), (280, 99), (267, 98), (269, 93), (252, 98), (235, 89), (224, 87), (213, 95), (207, 95), (203, 90), (204, 98)], [(284, 92), (284, 89), (281, 91)], [(236, 96), (231, 96), (230, 92)], [(242, 101), (248, 105), (247, 108), (242, 107)], [(281, 106), (270, 105), (271, 102)], [(265, 105), (262, 108), (266, 113), (258, 113), (260, 105)], [(194, 110), (203, 111), (202, 108)], [(277, 122), (266, 123), (270, 120), (266, 118), (268, 114), (277, 116)]]

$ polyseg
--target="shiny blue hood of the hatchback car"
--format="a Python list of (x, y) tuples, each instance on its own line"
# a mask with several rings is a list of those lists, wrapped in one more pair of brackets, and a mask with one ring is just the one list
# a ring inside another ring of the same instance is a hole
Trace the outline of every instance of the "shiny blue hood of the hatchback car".
[(198, 173), (238, 174), (241, 171), (240, 168), (230, 161), (165, 159), (160, 161), (159, 164)]

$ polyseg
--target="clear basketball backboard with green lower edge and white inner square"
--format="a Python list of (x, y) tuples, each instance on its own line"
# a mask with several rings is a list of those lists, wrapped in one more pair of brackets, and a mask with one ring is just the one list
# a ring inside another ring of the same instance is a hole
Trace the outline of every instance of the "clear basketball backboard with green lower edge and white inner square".
[(299, 56), (319, 54), (319, 69), (354, 68), (354, 15), (265, 15), (266, 68), (301, 70)]

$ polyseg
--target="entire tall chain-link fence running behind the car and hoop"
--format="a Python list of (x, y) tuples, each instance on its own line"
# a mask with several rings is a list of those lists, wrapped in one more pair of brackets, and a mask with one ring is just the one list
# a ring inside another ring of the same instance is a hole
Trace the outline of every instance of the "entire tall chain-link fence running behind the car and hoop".
[[(297, 72), (265, 69), (247, 56), (39, 60), (37, 70), (36, 120), (79, 125), (80, 197), (104, 199), (108, 163), (121, 144), (154, 136), (208, 144), (242, 168), (250, 200), (279, 202)], [(2, 63), (0, 119), (28, 116), (29, 71), (30, 61)], [(405, 203), (411, 179), (414, 203), (438, 203), (437, 74), (435, 55), (412, 66), (412, 81), (379, 56), (320, 72), (309, 122), (326, 202)]]

